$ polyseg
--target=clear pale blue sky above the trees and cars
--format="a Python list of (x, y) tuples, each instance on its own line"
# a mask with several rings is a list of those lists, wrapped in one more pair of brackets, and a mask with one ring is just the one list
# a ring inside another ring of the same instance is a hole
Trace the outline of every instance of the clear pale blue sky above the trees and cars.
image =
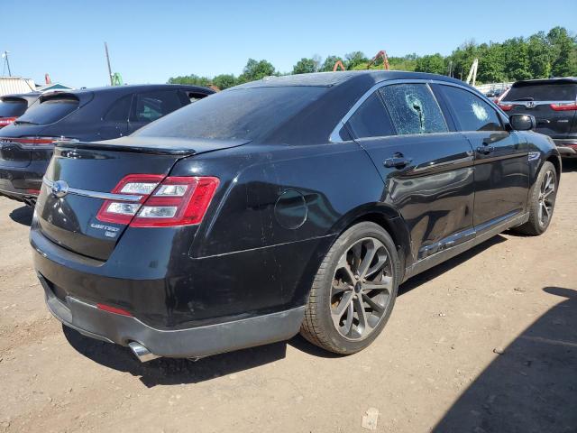
[(52, 82), (75, 88), (108, 83), (104, 41), (113, 72), (137, 84), (192, 73), (238, 75), (249, 58), (289, 72), (314, 55), (448, 55), (471, 39), (499, 42), (556, 25), (577, 32), (577, 0), (0, 0), (0, 6), (0, 51), (9, 51), (13, 75), (41, 83), (48, 72)]

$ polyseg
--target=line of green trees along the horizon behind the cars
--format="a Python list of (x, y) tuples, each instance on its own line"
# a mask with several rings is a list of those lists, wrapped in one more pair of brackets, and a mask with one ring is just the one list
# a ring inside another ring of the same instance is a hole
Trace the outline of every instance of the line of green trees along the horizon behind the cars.
[[(465, 41), (449, 56), (439, 53), (417, 56), (413, 53), (389, 57), (389, 65), (390, 69), (431, 72), (465, 79), (474, 59), (479, 59), (479, 84), (577, 76), (577, 36), (563, 27), (554, 27), (546, 33), (537, 32), (528, 38), (511, 38), (503, 42), (478, 44)], [(314, 56), (298, 60), (289, 74), (331, 71), (339, 60), (347, 70), (367, 69), (371, 61), (362, 51), (353, 51), (344, 57), (330, 55), (325, 60)], [(371, 69), (381, 68), (381, 59), (371, 65)], [(239, 76), (221, 74), (208, 78), (191, 74), (169, 78), (168, 82), (224, 89), (272, 75), (288, 74), (279, 72), (268, 60), (249, 59)]]

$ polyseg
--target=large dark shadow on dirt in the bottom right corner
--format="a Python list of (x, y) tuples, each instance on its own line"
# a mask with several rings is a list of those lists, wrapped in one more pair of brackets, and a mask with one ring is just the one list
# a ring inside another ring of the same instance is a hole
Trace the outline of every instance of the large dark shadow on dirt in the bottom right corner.
[(435, 426), (453, 431), (577, 431), (577, 290), (559, 297), (463, 392)]

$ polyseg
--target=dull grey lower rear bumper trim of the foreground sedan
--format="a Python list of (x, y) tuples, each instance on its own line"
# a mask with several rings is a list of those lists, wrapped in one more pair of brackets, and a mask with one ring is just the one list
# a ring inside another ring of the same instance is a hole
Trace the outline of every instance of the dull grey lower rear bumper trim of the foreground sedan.
[(287, 340), (298, 333), (305, 314), (305, 307), (298, 307), (205, 327), (157, 329), (137, 318), (97, 309), (80, 299), (67, 296), (61, 300), (47, 281), (39, 278), (50, 313), (67, 327), (118, 345), (137, 342), (158, 356), (200, 357)]

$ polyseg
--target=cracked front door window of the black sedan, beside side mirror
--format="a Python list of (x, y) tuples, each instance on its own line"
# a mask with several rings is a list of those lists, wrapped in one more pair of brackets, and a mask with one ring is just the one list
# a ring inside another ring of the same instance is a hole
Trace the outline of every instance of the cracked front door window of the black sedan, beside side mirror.
[(460, 131), (503, 131), (499, 115), (492, 106), (471, 92), (452, 86), (440, 86), (453, 109)]

